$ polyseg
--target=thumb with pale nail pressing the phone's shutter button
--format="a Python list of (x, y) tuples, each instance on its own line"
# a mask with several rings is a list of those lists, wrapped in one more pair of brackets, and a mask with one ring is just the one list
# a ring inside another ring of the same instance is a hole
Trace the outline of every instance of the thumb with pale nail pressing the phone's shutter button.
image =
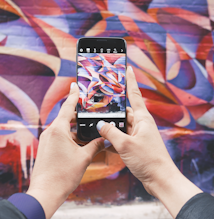
[(128, 139), (128, 135), (120, 131), (115, 126), (104, 121), (99, 121), (97, 123), (97, 130), (103, 138), (108, 140), (104, 141), (105, 148), (109, 147), (112, 144), (118, 152), (123, 146), (123, 142), (127, 141)]

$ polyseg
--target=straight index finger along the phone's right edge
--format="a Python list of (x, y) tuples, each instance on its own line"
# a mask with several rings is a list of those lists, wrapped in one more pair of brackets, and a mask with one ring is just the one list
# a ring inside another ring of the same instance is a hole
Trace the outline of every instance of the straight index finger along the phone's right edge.
[(141, 120), (145, 115), (148, 115), (148, 110), (143, 101), (142, 94), (138, 88), (135, 74), (131, 66), (127, 69), (127, 90), (129, 101), (132, 106), (136, 120)]

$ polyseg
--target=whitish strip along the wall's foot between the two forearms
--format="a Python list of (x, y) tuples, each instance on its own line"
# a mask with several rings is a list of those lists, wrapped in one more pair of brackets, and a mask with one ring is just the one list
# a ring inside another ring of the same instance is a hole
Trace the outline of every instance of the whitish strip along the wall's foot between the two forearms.
[(160, 202), (132, 203), (122, 206), (81, 206), (64, 203), (52, 219), (172, 219)]

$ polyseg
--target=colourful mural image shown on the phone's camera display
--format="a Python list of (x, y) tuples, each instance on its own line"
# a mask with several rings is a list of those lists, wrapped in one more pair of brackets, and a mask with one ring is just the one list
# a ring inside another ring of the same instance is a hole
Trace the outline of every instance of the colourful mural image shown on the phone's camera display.
[(78, 54), (78, 117), (125, 118), (126, 55)]

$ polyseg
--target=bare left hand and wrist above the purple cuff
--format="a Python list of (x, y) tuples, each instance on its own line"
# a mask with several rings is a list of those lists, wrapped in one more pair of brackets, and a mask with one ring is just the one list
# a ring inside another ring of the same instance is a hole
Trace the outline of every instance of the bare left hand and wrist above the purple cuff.
[(76, 189), (93, 157), (104, 149), (103, 138), (80, 147), (76, 133), (70, 132), (70, 123), (76, 121), (78, 99), (78, 86), (72, 83), (57, 118), (40, 136), (27, 194), (39, 201), (47, 219)]

